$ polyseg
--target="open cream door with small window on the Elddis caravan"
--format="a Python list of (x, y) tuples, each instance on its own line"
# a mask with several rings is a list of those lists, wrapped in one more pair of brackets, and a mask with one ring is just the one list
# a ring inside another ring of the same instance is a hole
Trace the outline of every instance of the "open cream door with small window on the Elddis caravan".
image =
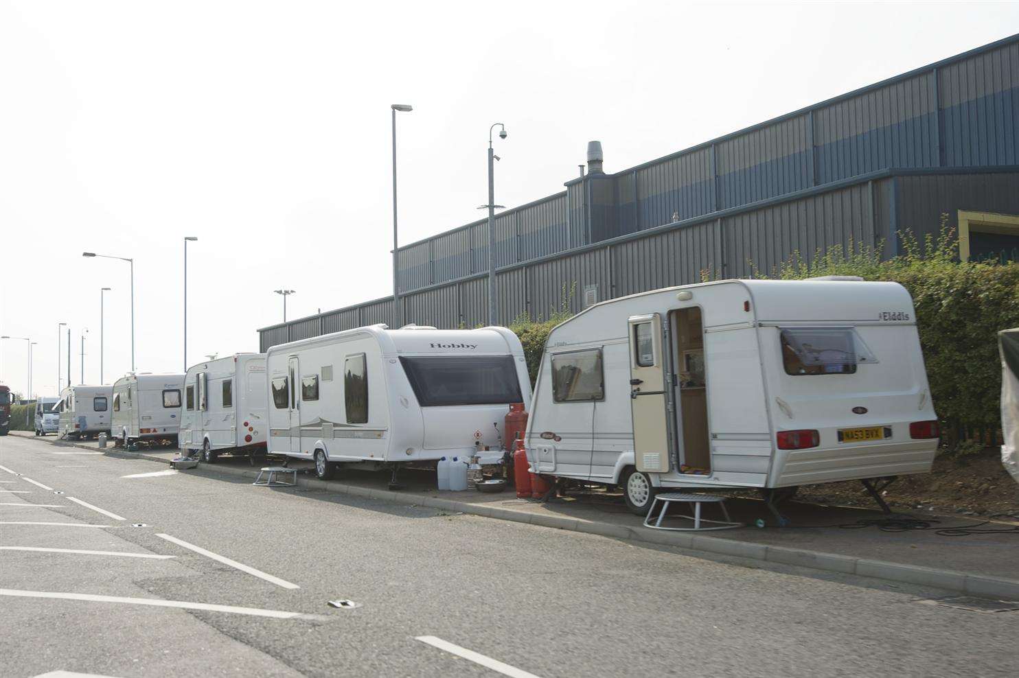
[(632, 316), (630, 336), (630, 406), (633, 412), (637, 470), (668, 470), (668, 412), (661, 316)]

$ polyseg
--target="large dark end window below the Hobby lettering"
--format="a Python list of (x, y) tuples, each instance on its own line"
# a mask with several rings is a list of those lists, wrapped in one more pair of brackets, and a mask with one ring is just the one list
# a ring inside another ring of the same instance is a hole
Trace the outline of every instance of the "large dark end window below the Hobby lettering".
[(422, 407), (523, 402), (511, 355), (400, 357)]

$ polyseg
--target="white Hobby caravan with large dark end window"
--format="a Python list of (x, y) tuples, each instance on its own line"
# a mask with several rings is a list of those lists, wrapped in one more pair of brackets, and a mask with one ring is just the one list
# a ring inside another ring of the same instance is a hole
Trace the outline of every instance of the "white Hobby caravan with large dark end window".
[(501, 327), (362, 327), (273, 346), (266, 372), (269, 452), (314, 459), (323, 478), (337, 462), (498, 463), (509, 404), (531, 402), (524, 349)]

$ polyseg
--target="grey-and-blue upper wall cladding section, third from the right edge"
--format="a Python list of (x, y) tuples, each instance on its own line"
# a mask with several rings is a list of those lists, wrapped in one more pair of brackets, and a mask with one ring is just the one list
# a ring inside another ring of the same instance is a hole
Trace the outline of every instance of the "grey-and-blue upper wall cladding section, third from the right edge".
[(716, 146), (719, 209), (811, 185), (810, 118), (801, 115)]

